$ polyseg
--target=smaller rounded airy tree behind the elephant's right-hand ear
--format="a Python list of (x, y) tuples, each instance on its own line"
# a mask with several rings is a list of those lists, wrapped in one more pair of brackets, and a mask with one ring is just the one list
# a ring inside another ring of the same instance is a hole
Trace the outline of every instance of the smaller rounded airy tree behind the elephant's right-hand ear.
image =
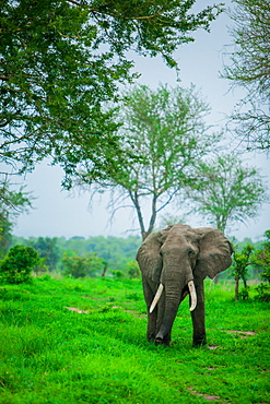
[(201, 163), (187, 194), (197, 205), (195, 211), (223, 233), (230, 224), (256, 217), (267, 200), (261, 176), (235, 155)]

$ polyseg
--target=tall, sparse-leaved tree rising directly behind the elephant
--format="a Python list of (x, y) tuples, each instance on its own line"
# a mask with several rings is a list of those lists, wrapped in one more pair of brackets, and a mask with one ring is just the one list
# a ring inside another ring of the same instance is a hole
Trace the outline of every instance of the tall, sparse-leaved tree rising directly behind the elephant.
[[(192, 177), (199, 159), (215, 147), (219, 135), (208, 134), (203, 118), (209, 107), (193, 86), (160, 85), (155, 91), (136, 86), (126, 94), (120, 111), (127, 156), (124, 169), (99, 180), (82, 170), (79, 185), (89, 189), (95, 180), (94, 191), (110, 189), (113, 206), (130, 200), (144, 239), (153, 230), (156, 215)], [(128, 159), (131, 151), (144, 158)], [(151, 212), (148, 224), (142, 212), (145, 203)]]

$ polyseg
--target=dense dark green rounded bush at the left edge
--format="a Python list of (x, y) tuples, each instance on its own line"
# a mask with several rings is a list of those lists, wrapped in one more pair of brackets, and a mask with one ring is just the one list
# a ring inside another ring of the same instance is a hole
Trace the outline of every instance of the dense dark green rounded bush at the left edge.
[(0, 281), (9, 284), (30, 282), (31, 272), (39, 263), (39, 257), (32, 247), (12, 247), (0, 262)]

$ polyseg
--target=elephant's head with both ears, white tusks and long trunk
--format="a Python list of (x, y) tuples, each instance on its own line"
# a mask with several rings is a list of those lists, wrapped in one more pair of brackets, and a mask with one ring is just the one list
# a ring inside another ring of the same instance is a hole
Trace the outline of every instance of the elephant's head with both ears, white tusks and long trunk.
[(232, 263), (231, 254), (230, 241), (222, 231), (211, 227), (168, 226), (143, 241), (137, 254), (142, 275), (151, 285), (160, 285), (152, 305), (146, 301), (150, 312), (165, 289), (164, 319), (157, 338), (171, 333), (178, 306), (188, 293), (190, 310), (196, 308), (197, 285), (206, 276), (213, 278), (225, 271)]

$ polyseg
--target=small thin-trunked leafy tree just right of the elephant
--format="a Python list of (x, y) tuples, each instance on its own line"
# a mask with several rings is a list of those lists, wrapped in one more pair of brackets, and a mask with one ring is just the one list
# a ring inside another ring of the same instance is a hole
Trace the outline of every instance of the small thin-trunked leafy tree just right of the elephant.
[(235, 278), (235, 300), (239, 297), (239, 281), (243, 280), (244, 287), (247, 289), (247, 272), (248, 265), (253, 262), (250, 261), (251, 252), (254, 247), (246, 245), (240, 252), (234, 251), (233, 253), (233, 264), (232, 264), (232, 275)]

